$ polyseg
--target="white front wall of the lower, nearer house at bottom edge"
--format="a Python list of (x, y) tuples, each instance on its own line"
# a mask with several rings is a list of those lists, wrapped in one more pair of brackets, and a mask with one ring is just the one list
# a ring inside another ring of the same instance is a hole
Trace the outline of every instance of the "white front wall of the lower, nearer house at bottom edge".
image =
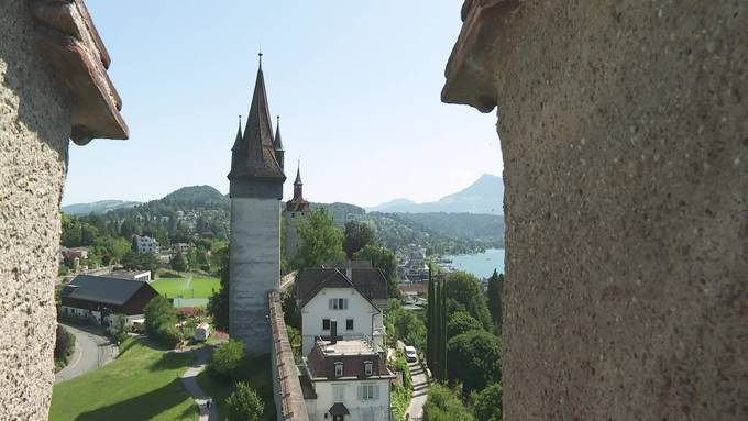
[[(324, 414), (332, 405), (341, 402), (351, 412), (345, 421), (384, 421), (389, 420), (389, 379), (345, 380), (345, 381), (315, 381), (317, 399), (308, 399), (307, 411), (310, 421), (332, 420), (332, 416)], [(373, 386), (373, 399), (364, 399), (363, 386)]]

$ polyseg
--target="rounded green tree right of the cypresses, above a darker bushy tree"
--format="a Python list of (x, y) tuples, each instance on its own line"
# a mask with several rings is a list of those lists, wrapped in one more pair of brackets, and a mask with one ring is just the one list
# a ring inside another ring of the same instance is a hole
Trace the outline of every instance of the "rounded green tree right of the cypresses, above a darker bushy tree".
[(444, 293), (448, 299), (449, 312), (464, 310), (483, 324), (483, 328), (491, 330), (491, 314), (486, 304), (481, 285), (475, 276), (465, 272), (454, 272), (447, 275)]

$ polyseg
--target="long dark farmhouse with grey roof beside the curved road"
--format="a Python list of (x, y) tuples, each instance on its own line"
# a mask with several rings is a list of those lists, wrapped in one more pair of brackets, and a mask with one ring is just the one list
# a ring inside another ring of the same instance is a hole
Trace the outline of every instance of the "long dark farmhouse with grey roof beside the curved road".
[(110, 315), (123, 314), (132, 322), (143, 318), (143, 309), (157, 295), (148, 282), (78, 275), (59, 293), (61, 315), (109, 325)]

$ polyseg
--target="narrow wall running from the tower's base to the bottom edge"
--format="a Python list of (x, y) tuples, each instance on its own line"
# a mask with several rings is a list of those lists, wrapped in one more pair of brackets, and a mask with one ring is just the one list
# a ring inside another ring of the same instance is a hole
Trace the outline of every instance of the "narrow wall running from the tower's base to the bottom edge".
[(286, 322), (283, 320), (280, 293), (268, 295), (270, 322), (273, 335), (271, 364), (273, 368), (273, 390), (278, 421), (308, 421), (309, 414), (304, 402), (304, 392), (298, 370), (294, 362), (294, 351), (288, 340)]

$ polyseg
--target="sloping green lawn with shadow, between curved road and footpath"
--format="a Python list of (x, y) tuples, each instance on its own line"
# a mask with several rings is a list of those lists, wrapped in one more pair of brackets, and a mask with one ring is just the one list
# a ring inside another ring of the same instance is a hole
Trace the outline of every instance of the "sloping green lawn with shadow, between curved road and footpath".
[(52, 421), (197, 420), (179, 375), (190, 354), (164, 354), (128, 339), (108, 365), (55, 385)]

